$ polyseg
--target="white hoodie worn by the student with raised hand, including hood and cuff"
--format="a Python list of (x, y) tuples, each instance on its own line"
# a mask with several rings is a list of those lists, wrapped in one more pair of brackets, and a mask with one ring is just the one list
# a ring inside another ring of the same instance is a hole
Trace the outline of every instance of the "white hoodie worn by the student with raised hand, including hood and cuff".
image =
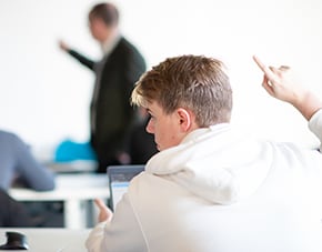
[[(322, 112), (310, 121), (322, 132)], [(320, 137), (318, 134), (318, 137)], [(321, 252), (322, 157), (218, 124), (152, 157), (87, 248), (151, 252)]]

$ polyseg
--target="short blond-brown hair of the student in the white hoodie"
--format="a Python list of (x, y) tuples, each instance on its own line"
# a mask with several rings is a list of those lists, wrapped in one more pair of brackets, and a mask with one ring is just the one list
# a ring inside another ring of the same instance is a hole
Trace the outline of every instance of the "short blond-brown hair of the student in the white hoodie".
[(165, 113), (191, 110), (199, 127), (229, 122), (232, 90), (224, 64), (203, 56), (169, 58), (145, 72), (132, 92), (133, 104), (155, 101)]

